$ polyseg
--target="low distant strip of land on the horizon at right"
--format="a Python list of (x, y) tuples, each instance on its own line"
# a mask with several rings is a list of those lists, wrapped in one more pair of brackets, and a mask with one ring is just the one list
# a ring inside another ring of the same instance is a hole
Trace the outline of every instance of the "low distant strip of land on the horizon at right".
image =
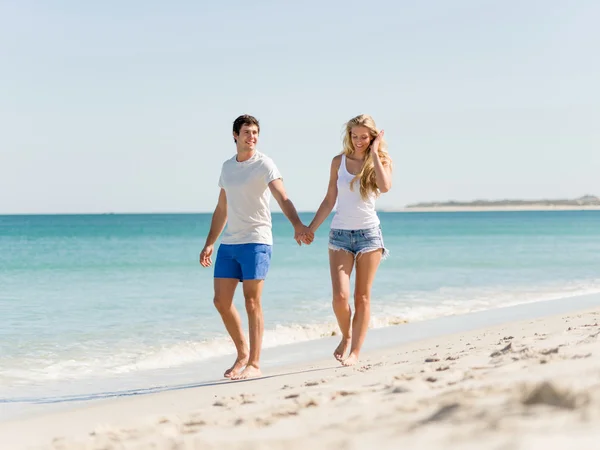
[(485, 209), (600, 209), (600, 198), (584, 195), (575, 199), (540, 199), (540, 200), (473, 200), (470, 202), (421, 202), (412, 203), (404, 208), (411, 210), (485, 210)]

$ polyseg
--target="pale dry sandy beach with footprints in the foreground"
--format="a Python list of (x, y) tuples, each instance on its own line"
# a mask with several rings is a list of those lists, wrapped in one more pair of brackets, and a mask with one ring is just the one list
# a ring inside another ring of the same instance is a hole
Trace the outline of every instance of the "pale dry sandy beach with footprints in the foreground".
[(599, 320), (600, 306), (367, 351), (351, 368), (331, 357), (70, 405), (0, 423), (0, 448), (597, 448)]

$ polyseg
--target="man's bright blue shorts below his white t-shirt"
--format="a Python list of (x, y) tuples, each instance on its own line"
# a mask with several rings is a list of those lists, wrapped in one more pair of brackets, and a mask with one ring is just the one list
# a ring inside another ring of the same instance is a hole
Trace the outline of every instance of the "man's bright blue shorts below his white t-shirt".
[(221, 244), (215, 262), (215, 278), (264, 280), (271, 265), (267, 244)]

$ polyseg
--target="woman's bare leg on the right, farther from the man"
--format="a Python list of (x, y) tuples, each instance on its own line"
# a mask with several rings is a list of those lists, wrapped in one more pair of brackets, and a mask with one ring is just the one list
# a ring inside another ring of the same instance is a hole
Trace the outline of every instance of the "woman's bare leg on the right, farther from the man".
[(348, 357), (342, 361), (344, 366), (353, 366), (358, 362), (360, 349), (367, 336), (369, 321), (371, 320), (371, 287), (381, 262), (381, 254), (381, 251), (372, 251), (362, 253), (356, 258), (352, 347)]

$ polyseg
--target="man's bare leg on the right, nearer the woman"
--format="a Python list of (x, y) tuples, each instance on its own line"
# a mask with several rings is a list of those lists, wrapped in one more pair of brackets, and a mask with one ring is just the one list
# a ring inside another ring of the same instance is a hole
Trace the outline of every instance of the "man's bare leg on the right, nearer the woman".
[(245, 280), (244, 299), (248, 313), (248, 328), (250, 330), (250, 357), (246, 368), (232, 380), (245, 380), (246, 378), (260, 377), (260, 350), (264, 331), (264, 319), (261, 304), (264, 280)]

